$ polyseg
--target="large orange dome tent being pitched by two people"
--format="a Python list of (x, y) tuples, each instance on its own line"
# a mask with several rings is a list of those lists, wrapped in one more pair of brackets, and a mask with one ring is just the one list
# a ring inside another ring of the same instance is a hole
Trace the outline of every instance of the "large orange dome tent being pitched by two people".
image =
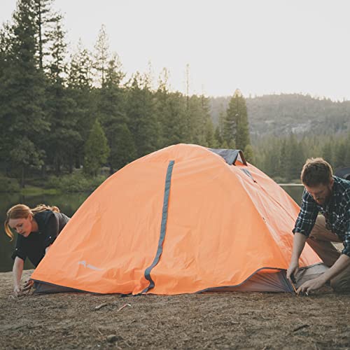
[[(102, 183), (31, 279), (38, 292), (291, 291), (298, 211), (241, 151), (169, 146)], [(306, 246), (300, 265), (320, 262)]]

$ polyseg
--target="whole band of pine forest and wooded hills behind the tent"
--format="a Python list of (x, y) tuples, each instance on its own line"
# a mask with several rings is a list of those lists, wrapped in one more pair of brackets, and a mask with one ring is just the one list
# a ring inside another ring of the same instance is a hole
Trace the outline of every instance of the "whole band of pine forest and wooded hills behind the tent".
[(12, 22), (0, 29), (1, 171), (21, 178), (22, 186), (41, 167), (40, 179), (73, 174), (50, 178), (52, 186), (82, 190), (90, 185), (74, 169), (83, 163), (85, 175), (102, 165), (113, 173), (179, 143), (239, 148), (248, 162), (284, 181), (298, 179), (309, 157), (323, 156), (335, 169), (350, 165), (350, 102), (300, 94), (245, 99), (239, 90), (232, 97), (190, 96), (170, 91), (167, 69), (157, 90), (151, 73), (124, 83), (104, 26), (93, 54), (79, 43), (67, 59), (53, 1), (19, 0)]

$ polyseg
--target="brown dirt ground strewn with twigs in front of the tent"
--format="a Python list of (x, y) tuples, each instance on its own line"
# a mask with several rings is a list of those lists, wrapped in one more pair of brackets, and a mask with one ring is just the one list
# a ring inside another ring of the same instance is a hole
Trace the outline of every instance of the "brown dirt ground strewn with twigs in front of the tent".
[(11, 295), (2, 273), (0, 349), (350, 349), (350, 293), (328, 287), (309, 297)]

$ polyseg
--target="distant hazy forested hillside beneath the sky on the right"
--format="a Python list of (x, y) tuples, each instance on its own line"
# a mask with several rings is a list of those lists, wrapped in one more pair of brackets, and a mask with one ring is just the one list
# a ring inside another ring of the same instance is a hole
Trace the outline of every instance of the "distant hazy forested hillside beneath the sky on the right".
[[(231, 97), (211, 97), (214, 125)], [(333, 102), (303, 94), (269, 94), (246, 99), (251, 137), (287, 137), (290, 132), (335, 135), (350, 130), (350, 101)]]

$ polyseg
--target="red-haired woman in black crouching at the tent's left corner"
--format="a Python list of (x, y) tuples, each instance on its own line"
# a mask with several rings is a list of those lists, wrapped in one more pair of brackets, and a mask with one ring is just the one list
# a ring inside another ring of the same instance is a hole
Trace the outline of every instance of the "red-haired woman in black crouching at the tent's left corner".
[(60, 213), (57, 207), (48, 207), (45, 204), (38, 204), (33, 209), (25, 204), (17, 204), (8, 209), (4, 223), (6, 235), (13, 240), (11, 229), (18, 233), (12, 255), (15, 296), (21, 295), (33, 285), (33, 281), (27, 281), (23, 288), (20, 286), (25, 259), (28, 257), (35, 267), (38, 266), (68, 221), (69, 217)]

